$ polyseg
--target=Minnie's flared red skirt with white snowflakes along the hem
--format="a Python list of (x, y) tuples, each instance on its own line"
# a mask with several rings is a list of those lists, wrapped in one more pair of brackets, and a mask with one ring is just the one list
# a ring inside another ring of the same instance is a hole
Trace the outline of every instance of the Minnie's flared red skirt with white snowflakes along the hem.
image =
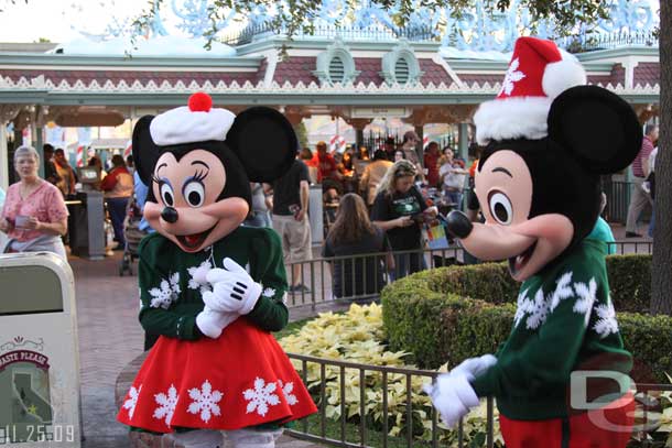
[(117, 419), (155, 433), (231, 430), (316, 411), (275, 338), (239, 318), (218, 339), (159, 338)]

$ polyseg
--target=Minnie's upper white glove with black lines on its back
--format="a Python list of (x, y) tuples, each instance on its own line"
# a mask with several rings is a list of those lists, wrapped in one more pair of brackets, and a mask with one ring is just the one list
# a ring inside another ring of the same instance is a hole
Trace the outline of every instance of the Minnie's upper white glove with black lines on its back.
[(213, 292), (203, 294), (203, 302), (216, 312), (248, 314), (261, 296), (261, 285), (234, 260), (224, 259), (224, 269), (212, 269), (206, 278)]

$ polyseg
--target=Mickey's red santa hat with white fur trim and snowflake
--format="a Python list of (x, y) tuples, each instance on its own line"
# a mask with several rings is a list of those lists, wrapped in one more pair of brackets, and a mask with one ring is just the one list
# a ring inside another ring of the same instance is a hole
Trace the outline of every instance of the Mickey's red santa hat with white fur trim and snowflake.
[(474, 114), (478, 144), (546, 136), (553, 99), (584, 84), (586, 72), (576, 57), (552, 41), (519, 37), (499, 95)]

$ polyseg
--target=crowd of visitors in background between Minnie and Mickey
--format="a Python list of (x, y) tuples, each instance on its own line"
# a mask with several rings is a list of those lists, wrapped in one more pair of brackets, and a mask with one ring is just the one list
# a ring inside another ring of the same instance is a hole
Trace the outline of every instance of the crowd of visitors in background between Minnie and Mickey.
[[(250, 186), (252, 210), (243, 226), (273, 227), (280, 234), (285, 263), (292, 265), (290, 293), (311, 292), (302, 277), (302, 263), (312, 256), (310, 184), (321, 184), (324, 193), (322, 255), (334, 259), (336, 297), (376, 294), (386, 275), (394, 280), (426, 269), (422, 229), (438, 215), (427, 190), (462, 208), (469, 172), (452, 147), (440, 152), (436, 142), (427, 145), (421, 163), (420, 141), (410, 131), (401, 145), (388, 139), (372, 156), (365, 146), (329, 153), (318, 142), (314, 152), (303, 147), (273, 185)], [(386, 252), (389, 256), (380, 255)]]

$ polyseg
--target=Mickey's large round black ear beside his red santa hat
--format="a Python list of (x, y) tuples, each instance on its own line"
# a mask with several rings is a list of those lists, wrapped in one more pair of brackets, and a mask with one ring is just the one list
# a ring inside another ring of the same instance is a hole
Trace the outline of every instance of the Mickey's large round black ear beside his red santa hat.
[(551, 105), (549, 138), (589, 172), (609, 174), (632, 163), (641, 149), (642, 129), (635, 110), (618, 95), (577, 86)]

